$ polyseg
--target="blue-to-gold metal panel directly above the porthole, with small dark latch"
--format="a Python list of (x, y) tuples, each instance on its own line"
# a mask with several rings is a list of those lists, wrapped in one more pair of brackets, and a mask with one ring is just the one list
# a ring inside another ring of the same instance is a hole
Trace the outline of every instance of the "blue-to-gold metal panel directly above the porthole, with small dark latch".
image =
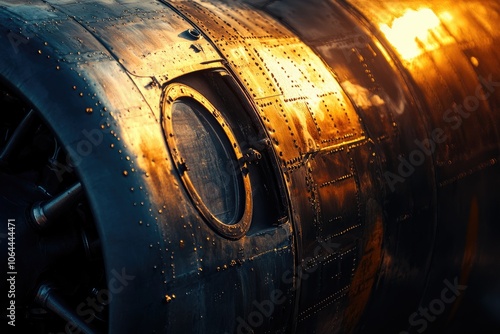
[(135, 76), (164, 82), (220, 58), (209, 41), (189, 34), (192, 25), (159, 2), (53, 6), (74, 16)]

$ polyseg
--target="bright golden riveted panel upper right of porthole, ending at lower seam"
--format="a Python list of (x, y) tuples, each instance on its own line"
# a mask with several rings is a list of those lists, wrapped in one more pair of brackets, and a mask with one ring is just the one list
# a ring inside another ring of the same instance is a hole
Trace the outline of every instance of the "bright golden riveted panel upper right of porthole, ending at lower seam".
[[(354, 141), (364, 138), (352, 104), (333, 74), (308, 46), (258, 13), (252, 14), (257, 24), (241, 17), (236, 19), (235, 13), (250, 11), (244, 5), (202, 5), (175, 2), (214, 41), (252, 97), (256, 101), (266, 99), (267, 109), (268, 103), (275, 104), (278, 113), (265, 111), (266, 117), (272, 123), (282, 123), (280, 114), (286, 115), (290, 131), (271, 131), (278, 141), (288, 141), (290, 132), (296, 136), (293, 150), (280, 149), (284, 161), (341, 144), (346, 138)], [(282, 135), (285, 137), (281, 138)]]

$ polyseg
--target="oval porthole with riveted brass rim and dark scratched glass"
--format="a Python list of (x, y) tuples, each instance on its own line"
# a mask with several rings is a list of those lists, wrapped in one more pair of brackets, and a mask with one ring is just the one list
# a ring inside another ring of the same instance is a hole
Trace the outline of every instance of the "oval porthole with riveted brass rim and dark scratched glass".
[(163, 127), (194, 205), (217, 232), (241, 238), (251, 222), (250, 176), (223, 115), (198, 91), (172, 84), (164, 94)]

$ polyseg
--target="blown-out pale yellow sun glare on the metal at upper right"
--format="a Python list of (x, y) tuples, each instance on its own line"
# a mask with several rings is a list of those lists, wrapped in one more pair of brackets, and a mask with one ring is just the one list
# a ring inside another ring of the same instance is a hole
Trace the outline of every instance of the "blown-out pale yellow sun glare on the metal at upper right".
[(432, 38), (431, 31), (437, 30), (440, 25), (441, 21), (431, 9), (409, 9), (403, 16), (395, 18), (390, 26), (381, 24), (380, 30), (398, 53), (405, 60), (410, 60), (424, 51), (439, 47)]

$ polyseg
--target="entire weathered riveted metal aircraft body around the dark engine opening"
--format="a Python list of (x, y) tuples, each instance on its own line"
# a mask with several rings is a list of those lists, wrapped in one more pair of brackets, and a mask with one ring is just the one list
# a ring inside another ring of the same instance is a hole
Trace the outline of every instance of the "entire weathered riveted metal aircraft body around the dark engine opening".
[[(83, 322), (111, 333), (500, 328), (496, 1), (0, 8), (2, 82), (73, 159), (97, 227), (112, 301), (107, 320), (90, 321), (85, 292), (68, 293)], [(181, 104), (196, 120), (176, 116)], [(208, 153), (186, 153), (182, 138)], [(24, 202), (43, 196), (9, 195), (20, 181), (2, 168), (0, 218), (25, 221)], [(234, 212), (221, 213), (227, 203)], [(18, 279), (36, 290), (40, 270), (21, 266)]]

